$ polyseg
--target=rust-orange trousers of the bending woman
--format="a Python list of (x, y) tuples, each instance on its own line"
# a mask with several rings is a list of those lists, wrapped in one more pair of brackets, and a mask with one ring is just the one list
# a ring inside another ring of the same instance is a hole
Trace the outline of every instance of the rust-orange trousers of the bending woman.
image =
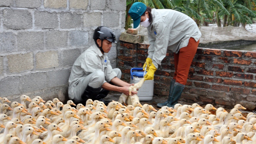
[(174, 53), (175, 72), (173, 79), (175, 82), (186, 84), (190, 65), (196, 54), (198, 44), (199, 40), (196, 42), (196, 40), (191, 37), (188, 46), (181, 48), (178, 54)]

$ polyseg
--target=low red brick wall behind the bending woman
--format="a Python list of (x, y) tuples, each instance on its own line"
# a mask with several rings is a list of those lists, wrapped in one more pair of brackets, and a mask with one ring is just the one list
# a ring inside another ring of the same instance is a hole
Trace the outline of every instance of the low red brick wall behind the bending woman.
[[(141, 68), (148, 56), (147, 44), (120, 42), (118, 68), (122, 79), (130, 81), (130, 69)], [(174, 59), (168, 51), (155, 72), (154, 96), (168, 97), (174, 76)], [(256, 109), (256, 52), (198, 48), (181, 100), (232, 108), (242, 104)]]

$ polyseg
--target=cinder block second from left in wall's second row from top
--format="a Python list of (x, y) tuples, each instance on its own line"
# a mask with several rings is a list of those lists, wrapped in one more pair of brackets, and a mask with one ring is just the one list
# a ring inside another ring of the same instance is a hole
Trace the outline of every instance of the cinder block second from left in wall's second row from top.
[(58, 16), (56, 12), (35, 11), (35, 26), (38, 28), (58, 28)]

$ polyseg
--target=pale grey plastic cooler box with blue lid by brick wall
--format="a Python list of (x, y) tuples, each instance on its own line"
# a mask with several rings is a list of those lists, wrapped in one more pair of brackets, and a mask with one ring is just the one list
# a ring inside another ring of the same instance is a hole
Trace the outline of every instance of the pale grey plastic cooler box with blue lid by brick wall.
[[(130, 83), (137, 83), (143, 78), (144, 72), (133, 72), (134, 70), (143, 70), (142, 68), (132, 68), (131, 69), (131, 78)], [(138, 90), (138, 97), (140, 101), (151, 101), (154, 94), (154, 79), (146, 80), (142, 87)]]

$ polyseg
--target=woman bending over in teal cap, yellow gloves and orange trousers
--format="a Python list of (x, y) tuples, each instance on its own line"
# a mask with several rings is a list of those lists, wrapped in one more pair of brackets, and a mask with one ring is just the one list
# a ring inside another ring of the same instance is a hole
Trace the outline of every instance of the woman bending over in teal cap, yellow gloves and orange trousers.
[(186, 14), (170, 9), (151, 9), (141, 2), (132, 4), (129, 15), (134, 28), (139, 24), (148, 28), (148, 58), (143, 68), (148, 71), (145, 80), (152, 80), (161, 65), (167, 49), (174, 52), (174, 78), (170, 82), (168, 100), (157, 106), (174, 107), (185, 87), (188, 72), (201, 37), (201, 32)]

